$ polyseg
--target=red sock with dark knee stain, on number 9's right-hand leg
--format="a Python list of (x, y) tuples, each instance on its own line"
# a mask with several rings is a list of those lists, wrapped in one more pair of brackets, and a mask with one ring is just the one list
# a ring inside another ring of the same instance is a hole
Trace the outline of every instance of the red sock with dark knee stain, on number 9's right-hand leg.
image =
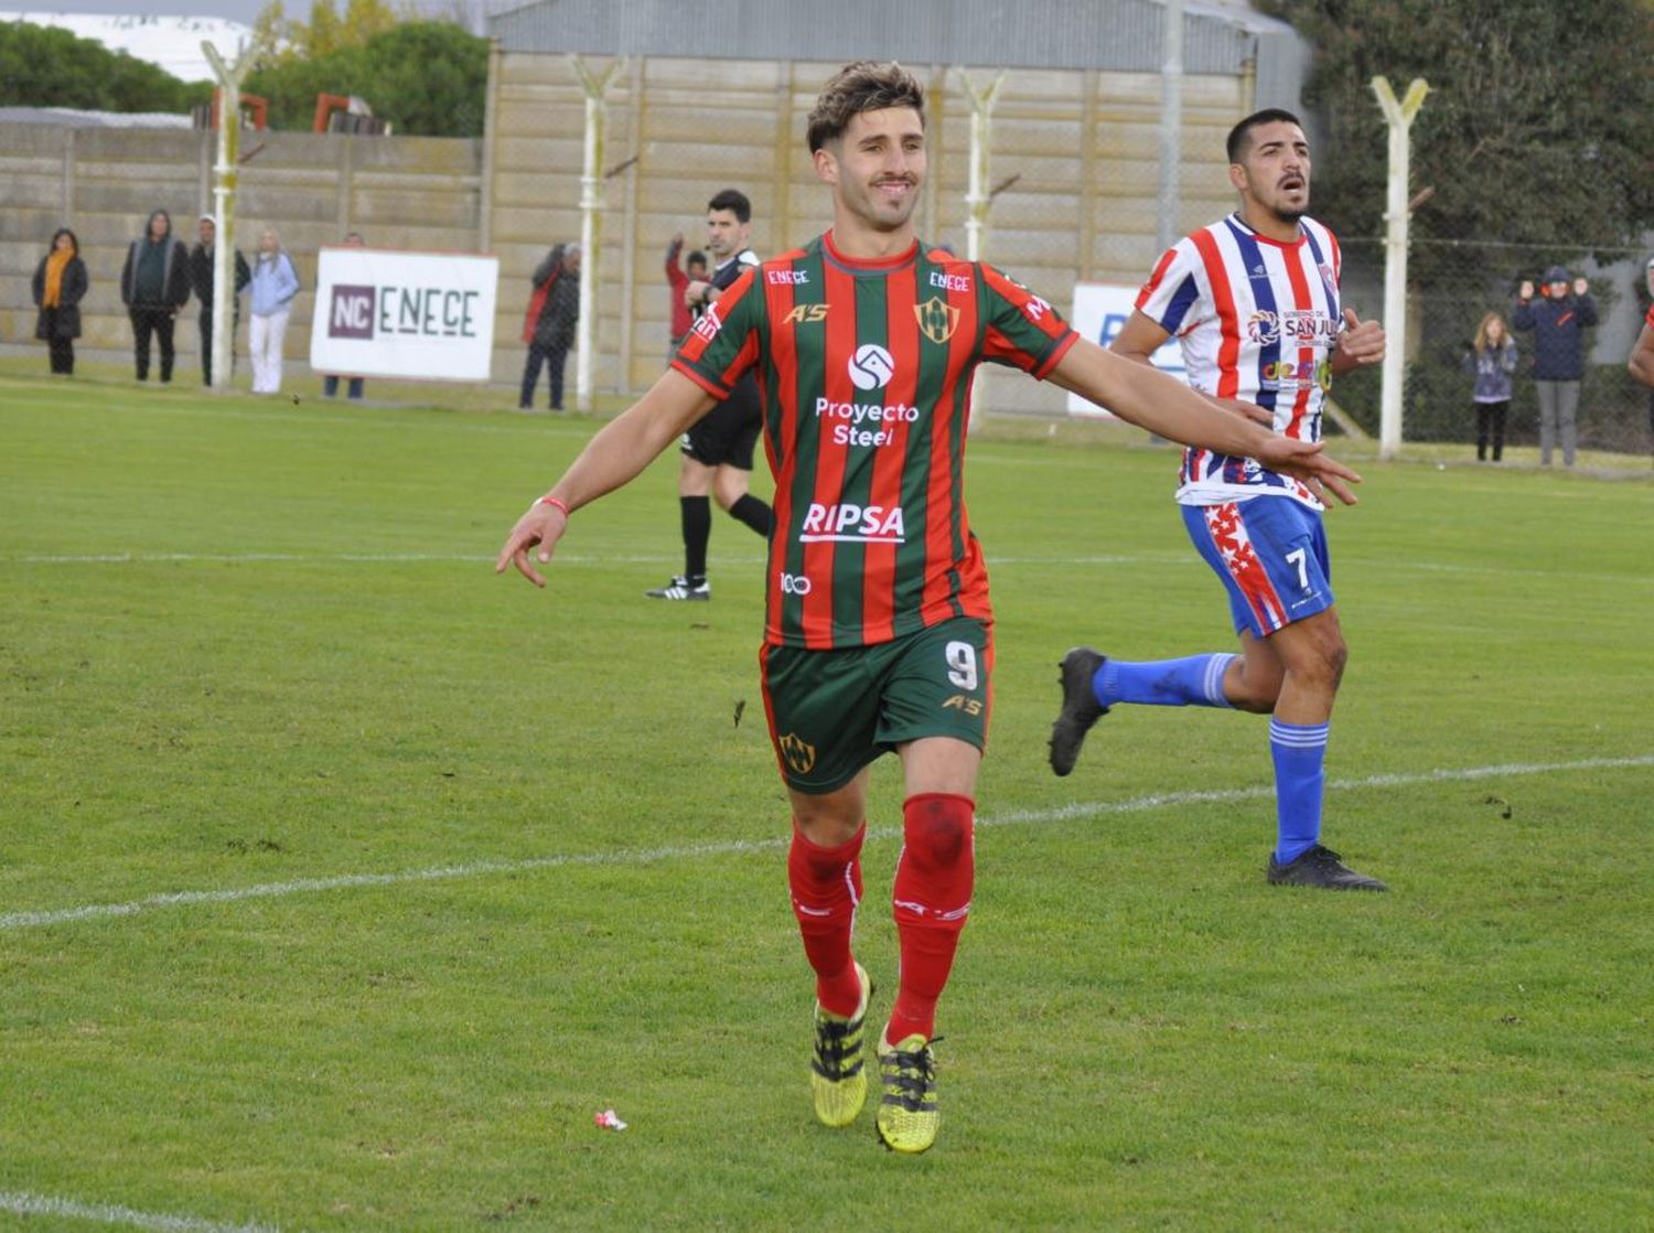
[(976, 880), (976, 801), (920, 793), (901, 806), (901, 857), (892, 894), (901, 938), (901, 981), (885, 1043), (936, 1029), (936, 998), (948, 983)]

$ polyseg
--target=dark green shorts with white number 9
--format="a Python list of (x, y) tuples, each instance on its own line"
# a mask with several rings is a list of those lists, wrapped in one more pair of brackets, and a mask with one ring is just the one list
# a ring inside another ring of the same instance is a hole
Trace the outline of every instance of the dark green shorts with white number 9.
[(994, 637), (984, 621), (954, 617), (844, 650), (766, 645), (758, 665), (781, 778), (801, 793), (844, 788), (920, 736), (987, 745)]

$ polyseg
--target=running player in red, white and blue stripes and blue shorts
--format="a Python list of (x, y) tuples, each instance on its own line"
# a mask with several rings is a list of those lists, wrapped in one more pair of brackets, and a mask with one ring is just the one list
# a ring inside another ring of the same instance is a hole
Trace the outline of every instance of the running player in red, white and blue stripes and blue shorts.
[[(1338, 242), (1307, 217), (1310, 146), (1290, 111), (1259, 111), (1229, 134), (1240, 209), (1179, 240), (1154, 265), (1113, 351), (1150, 364), (1171, 336), (1189, 384), (1290, 440), (1322, 435), (1331, 377), (1384, 357), (1384, 331), (1338, 298)], [(1245, 450), (1184, 450), (1178, 501), (1189, 538), (1229, 591), (1240, 654), (1123, 662), (1075, 647), (1062, 662), (1050, 765), (1073, 770), (1085, 733), (1125, 702), (1272, 715), (1277, 839), (1272, 884), (1383, 890), (1323, 847), (1327, 732), (1345, 667), (1312, 487)]]

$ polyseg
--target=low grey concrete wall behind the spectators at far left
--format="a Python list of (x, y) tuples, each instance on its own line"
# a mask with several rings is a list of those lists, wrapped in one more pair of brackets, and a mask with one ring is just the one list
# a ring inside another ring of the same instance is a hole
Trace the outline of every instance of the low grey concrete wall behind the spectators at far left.
[[(435, 137), (347, 137), (309, 132), (246, 132), (241, 154), (237, 247), (251, 257), (258, 233), (275, 227), (298, 266), (304, 291), (286, 338), (289, 361), (309, 354), (316, 250), (357, 230), (374, 245), (437, 252), (481, 247), (481, 142)], [(126, 247), (151, 210), (172, 215), (172, 230), (195, 242), (195, 220), (212, 209), (217, 134), (187, 129), (68, 129), (0, 126), (0, 348), (45, 348), (33, 341), (30, 278), (51, 233), (74, 230), (91, 276), (81, 305), (76, 354), (127, 357), (132, 329), (121, 305)], [(197, 306), (177, 331), (180, 369), (198, 372)], [(243, 314), (238, 351), (246, 353)]]

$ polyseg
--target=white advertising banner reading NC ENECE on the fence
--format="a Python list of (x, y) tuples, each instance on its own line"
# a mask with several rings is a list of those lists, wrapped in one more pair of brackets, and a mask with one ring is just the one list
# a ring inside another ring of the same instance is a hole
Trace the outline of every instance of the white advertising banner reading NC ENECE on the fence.
[(351, 377), (488, 381), (500, 258), (323, 248), (311, 367)]

